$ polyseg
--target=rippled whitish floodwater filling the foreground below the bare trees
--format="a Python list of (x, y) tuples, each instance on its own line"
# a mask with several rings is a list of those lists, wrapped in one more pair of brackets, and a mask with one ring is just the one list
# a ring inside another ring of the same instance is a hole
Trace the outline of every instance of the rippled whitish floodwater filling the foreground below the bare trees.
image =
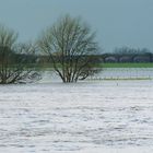
[(0, 153), (152, 153), (153, 81), (0, 86)]

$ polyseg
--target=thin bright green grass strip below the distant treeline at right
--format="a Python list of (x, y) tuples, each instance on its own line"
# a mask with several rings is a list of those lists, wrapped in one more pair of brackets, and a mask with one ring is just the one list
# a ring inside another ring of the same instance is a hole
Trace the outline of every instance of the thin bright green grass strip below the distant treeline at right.
[(102, 68), (153, 68), (153, 63), (102, 63)]

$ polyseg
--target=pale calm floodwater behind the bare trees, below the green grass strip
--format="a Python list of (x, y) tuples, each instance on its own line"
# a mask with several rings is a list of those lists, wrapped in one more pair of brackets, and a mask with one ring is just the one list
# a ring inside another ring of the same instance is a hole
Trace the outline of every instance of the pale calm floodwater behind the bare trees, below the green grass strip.
[[(97, 74), (90, 76), (89, 80), (153, 80), (153, 68), (103, 68)], [(43, 72), (40, 82), (60, 82), (54, 72)]]

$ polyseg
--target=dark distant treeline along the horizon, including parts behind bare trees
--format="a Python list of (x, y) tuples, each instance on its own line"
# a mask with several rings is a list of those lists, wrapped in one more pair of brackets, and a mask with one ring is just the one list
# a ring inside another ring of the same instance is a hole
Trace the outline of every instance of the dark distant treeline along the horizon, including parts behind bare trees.
[[(153, 52), (149, 49), (133, 49), (129, 47), (116, 48), (113, 52), (106, 54), (97, 54), (97, 55), (85, 55), (85, 57), (90, 57), (91, 62), (94, 63), (103, 63), (103, 62), (153, 62)], [(2, 61), (3, 56), (0, 55), (0, 62)], [(28, 61), (30, 63), (51, 63), (51, 60), (48, 56), (45, 55), (26, 55), (26, 54), (15, 54), (12, 52), (12, 58), (15, 59), (15, 63), (17, 63), (19, 59), (24, 59), (24, 63)], [(11, 58), (11, 59), (12, 59)], [(59, 57), (58, 57), (59, 58)], [(78, 57), (75, 57), (78, 58)], [(56, 56), (55, 56), (56, 59)], [(66, 57), (67, 59), (67, 57)], [(57, 59), (58, 61), (59, 59)]]

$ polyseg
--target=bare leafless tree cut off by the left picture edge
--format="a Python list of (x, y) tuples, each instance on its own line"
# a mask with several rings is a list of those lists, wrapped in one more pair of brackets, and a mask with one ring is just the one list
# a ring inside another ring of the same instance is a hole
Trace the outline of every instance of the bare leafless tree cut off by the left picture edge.
[(19, 83), (36, 73), (27, 55), (32, 45), (16, 45), (17, 34), (0, 25), (0, 84)]

